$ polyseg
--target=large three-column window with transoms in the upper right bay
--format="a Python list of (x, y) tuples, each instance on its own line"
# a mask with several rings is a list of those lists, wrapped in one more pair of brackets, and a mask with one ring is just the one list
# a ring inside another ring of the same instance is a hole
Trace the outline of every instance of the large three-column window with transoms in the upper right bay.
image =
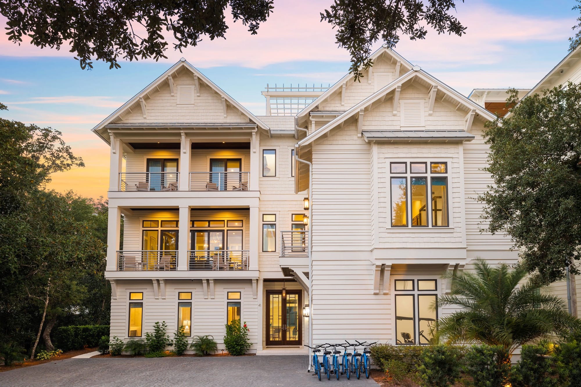
[(389, 165), (392, 227), (447, 227), (446, 162), (393, 162)]

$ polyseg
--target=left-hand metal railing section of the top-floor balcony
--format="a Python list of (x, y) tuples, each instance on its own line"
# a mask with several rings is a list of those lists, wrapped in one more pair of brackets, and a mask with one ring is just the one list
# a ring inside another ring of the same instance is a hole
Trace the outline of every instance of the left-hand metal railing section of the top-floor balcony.
[(177, 191), (179, 172), (122, 172), (119, 174), (119, 191)]

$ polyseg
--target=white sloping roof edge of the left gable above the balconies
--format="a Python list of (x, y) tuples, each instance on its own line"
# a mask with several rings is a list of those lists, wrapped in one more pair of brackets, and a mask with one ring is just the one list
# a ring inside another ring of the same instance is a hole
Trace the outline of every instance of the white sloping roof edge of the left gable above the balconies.
[[(196, 67), (193, 67), (192, 64), (189, 63), (184, 58), (181, 58), (173, 66), (171, 66), (169, 69), (167, 69), (162, 75), (160, 75), (159, 77), (157, 77), (155, 81), (153, 81), (152, 83), (150, 83), (149, 85), (147, 85), (144, 89), (142, 89), (137, 94), (135, 94), (129, 101), (125, 102), (123, 105), (121, 105), (113, 113), (109, 114), (109, 116), (107, 116), (106, 119), (104, 119), (97, 126), (95, 126), (94, 128), (92, 128), (91, 131), (92, 132), (95, 132), (95, 134), (97, 134), (107, 144), (109, 144), (109, 142), (110, 142), (109, 136), (103, 135), (99, 131), (101, 131), (107, 124), (110, 124), (114, 119), (116, 119), (117, 117), (119, 117), (120, 114), (122, 114), (125, 111), (127, 111), (132, 105), (135, 105), (135, 103), (139, 103), (139, 98), (143, 98), (145, 95), (148, 95), (149, 92), (153, 91), (153, 89), (156, 88), (157, 85), (159, 85), (159, 84), (161, 84), (163, 82), (166, 82), (167, 81), (167, 77), (169, 75), (174, 74), (175, 72), (179, 71), (182, 68), (188, 69), (193, 74), (195, 74), (196, 76), (198, 76), (203, 83), (205, 83), (206, 85), (209, 85), (209, 87), (212, 88), (215, 92), (217, 92), (217, 94), (219, 94), (220, 96), (223, 96), (224, 99), (225, 99), (225, 101), (227, 101), (228, 103), (230, 103), (232, 106), (236, 107), (236, 109), (240, 110), (246, 117), (248, 117), (250, 119), (250, 121), (253, 121), (254, 123), (256, 123), (256, 125), (259, 128), (261, 128), (263, 130), (266, 130), (268, 132), (269, 137), (270, 137), (271, 131), (270, 131), (270, 127), (268, 127), (267, 124), (265, 124), (263, 121), (261, 121), (260, 119), (258, 119), (256, 116), (254, 116), (254, 114), (250, 113), (249, 110), (246, 109), (246, 107), (242, 106), (240, 103), (238, 103), (238, 101), (236, 101), (234, 98), (232, 98), (231, 96), (229, 96), (227, 94), (227, 92), (225, 92), (223, 89), (221, 89), (220, 87), (218, 87), (218, 85), (216, 85), (212, 81), (210, 81), (209, 78), (207, 78), (198, 69), (196, 69)], [(226, 126), (228, 126), (228, 125), (229, 124), (226, 124)]]

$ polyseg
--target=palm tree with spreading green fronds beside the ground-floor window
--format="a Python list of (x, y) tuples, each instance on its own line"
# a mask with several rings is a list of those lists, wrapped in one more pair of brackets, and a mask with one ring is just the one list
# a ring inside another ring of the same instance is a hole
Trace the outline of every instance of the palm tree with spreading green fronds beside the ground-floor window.
[(565, 301), (540, 292), (523, 268), (507, 264), (491, 267), (477, 260), (474, 273), (447, 274), (450, 295), (437, 306), (460, 306), (440, 318), (437, 337), (450, 343), (480, 343), (503, 346), (509, 354), (525, 343), (549, 335), (564, 337), (581, 327)]

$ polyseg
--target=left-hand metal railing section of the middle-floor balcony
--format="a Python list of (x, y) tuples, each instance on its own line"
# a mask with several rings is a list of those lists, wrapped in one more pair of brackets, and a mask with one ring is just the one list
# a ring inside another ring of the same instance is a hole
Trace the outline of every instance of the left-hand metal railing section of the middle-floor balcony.
[(118, 250), (118, 271), (177, 270), (177, 250)]

